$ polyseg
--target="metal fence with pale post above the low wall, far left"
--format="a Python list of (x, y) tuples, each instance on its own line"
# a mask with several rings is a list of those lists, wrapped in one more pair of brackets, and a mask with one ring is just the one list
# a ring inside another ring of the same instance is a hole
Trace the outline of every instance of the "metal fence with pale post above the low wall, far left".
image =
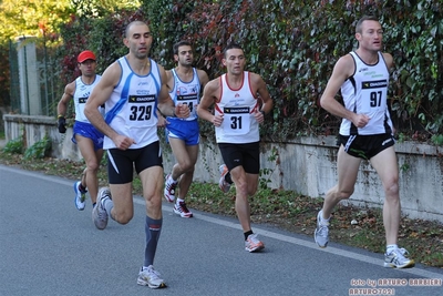
[(45, 40), (22, 37), (10, 41), (11, 111), (53, 116), (63, 93), (60, 65)]

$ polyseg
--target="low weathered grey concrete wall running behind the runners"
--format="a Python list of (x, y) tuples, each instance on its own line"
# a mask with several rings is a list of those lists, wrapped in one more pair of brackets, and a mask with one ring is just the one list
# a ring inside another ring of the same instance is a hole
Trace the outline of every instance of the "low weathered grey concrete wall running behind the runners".
[[(72, 144), (72, 129), (61, 135), (53, 118), (3, 115), (7, 141), (25, 131), (28, 146), (48, 134), (52, 143), (52, 156), (81, 160), (76, 146)], [(174, 164), (171, 149), (163, 143), (164, 166), (169, 172)], [(395, 151), (400, 167), (400, 194), (402, 212), (411, 218), (436, 220), (443, 222), (443, 147), (404, 142), (396, 143)], [(296, 191), (319, 197), (337, 182), (337, 152), (334, 136), (299, 137), (289, 143), (261, 145), (261, 169), (268, 172), (261, 176), (274, 188)], [(196, 164), (195, 180), (218, 182), (218, 165), (223, 163), (218, 146), (202, 141)], [(354, 194), (350, 203), (360, 206), (380, 207), (384, 194), (381, 182), (368, 162), (360, 166)]]

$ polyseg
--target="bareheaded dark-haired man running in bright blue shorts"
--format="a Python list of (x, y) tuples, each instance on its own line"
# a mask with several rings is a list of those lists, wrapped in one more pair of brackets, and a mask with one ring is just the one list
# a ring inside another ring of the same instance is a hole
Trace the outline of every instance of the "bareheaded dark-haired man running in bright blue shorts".
[[(174, 59), (177, 67), (166, 71), (169, 95), (176, 105), (186, 104), (190, 114), (187, 119), (168, 116), (167, 140), (176, 163), (166, 176), (164, 196), (175, 202), (173, 211), (181, 217), (192, 217), (185, 197), (194, 177), (194, 167), (198, 156), (199, 127), (196, 109), (200, 99), (200, 89), (208, 82), (205, 71), (193, 68), (194, 54), (189, 42), (174, 44)], [(178, 194), (176, 193), (178, 190)], [(177, 196), (177, 198), (175, 198)]]

